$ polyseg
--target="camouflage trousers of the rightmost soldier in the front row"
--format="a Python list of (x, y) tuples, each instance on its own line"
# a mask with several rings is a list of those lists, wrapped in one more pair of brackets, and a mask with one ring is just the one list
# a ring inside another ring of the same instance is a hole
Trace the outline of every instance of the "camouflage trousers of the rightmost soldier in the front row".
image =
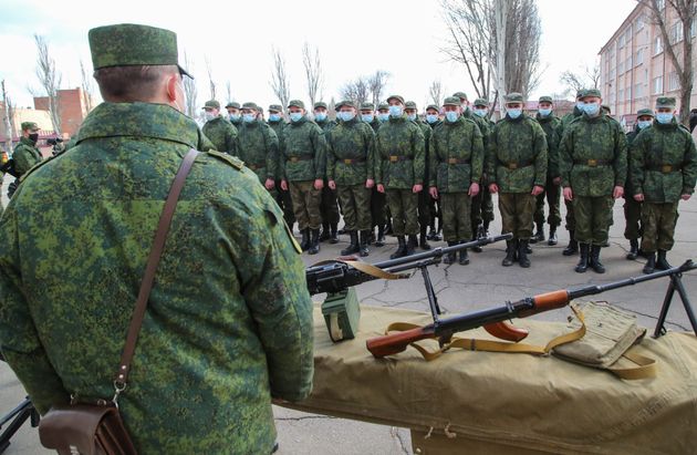
[(644, 203), (642, 206), (642, 249), (655, 252), (657, 249), (669, 250), (675, 240), (675, 225), (677, 224), (678, 203), (654, 204)]

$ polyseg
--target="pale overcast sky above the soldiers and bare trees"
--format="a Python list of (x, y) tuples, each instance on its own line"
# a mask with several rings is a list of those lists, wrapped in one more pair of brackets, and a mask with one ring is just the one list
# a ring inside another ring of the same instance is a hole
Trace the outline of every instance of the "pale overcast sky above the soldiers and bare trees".
[[(55, 6), (60, 4), (60, 8)], [(635, 0), (538, 0), (542, 20), (541, 85), (531, 94), (562, 93), (565, 70), (592, 66), (601, 46), (636, 6)], [(62, 87), (81, 84), (80, 60), (91, 72), (87, 30), (132, 22), (175, 31), (179, 60), (198, 83), (200, 105), (209, 97), (206, 59), (218, 84), (218, 100), (268, 106), (277, 102), (270, 86), (272, 46), (279, 48), (290, 73), (291, 97), (308, 101), (302, 45), (319, 46), (325, 75), (324, 100), (340, 99), (348, 80), (375, 70), (391, 74), (387, 93), (414, 100), (423, 110), (434, 80), (446, 94), (475, 92), (465, 68), (439, 52), (446, 37), (439, 0), (352, 1), (197, 1), (2, 0), (0, 2), (0, 80), (19, 106), (31, 106), (29, 87), (38, 91), (33, 34), (44, 35), (63, 74)]]

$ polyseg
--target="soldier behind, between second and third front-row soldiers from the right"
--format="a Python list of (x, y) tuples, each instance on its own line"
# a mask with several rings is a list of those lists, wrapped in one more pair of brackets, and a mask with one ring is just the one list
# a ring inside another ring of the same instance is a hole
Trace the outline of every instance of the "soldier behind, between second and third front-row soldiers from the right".
[(561, 225), (561, 213), (559, 203), (561, 199), (561, 176), (559, 173), (558, 145), (555, 141), (554, 130), (561, 124), (561, 120), (552, 113), (553, 103), (551, 96), (540, 96), (538, 101), (538, 113), (535, 120), (544, 130), (547, 137), (547, 182), (544, 184), (544, 193), (538, 196), (533, 220), (537, 225), (537, 234), (530, 239), (531, 244), (544, 241), (544, 199), (550, 206), (550, 215), (547, 223), (550, 225), (550, 239), (548, 245), (556, 245), (556, 227)]

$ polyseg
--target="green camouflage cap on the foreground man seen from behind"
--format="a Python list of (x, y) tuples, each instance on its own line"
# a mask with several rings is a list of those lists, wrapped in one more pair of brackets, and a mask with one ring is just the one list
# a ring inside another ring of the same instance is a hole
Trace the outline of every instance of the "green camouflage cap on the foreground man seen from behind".
[(119, 23), (97, 27), (87, 33), (92, 65), (110, 66), (176, 65), (179, 66), (177, 34), (156, 27)]

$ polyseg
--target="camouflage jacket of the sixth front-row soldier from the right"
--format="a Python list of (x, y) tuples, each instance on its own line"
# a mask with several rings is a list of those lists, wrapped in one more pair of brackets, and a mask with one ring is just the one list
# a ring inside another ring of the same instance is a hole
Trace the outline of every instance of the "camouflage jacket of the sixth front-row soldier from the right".
[(326, 136), (326, 179), (339, 186), (374, 178), (375, 133), (357, 118), (341, 122)]

